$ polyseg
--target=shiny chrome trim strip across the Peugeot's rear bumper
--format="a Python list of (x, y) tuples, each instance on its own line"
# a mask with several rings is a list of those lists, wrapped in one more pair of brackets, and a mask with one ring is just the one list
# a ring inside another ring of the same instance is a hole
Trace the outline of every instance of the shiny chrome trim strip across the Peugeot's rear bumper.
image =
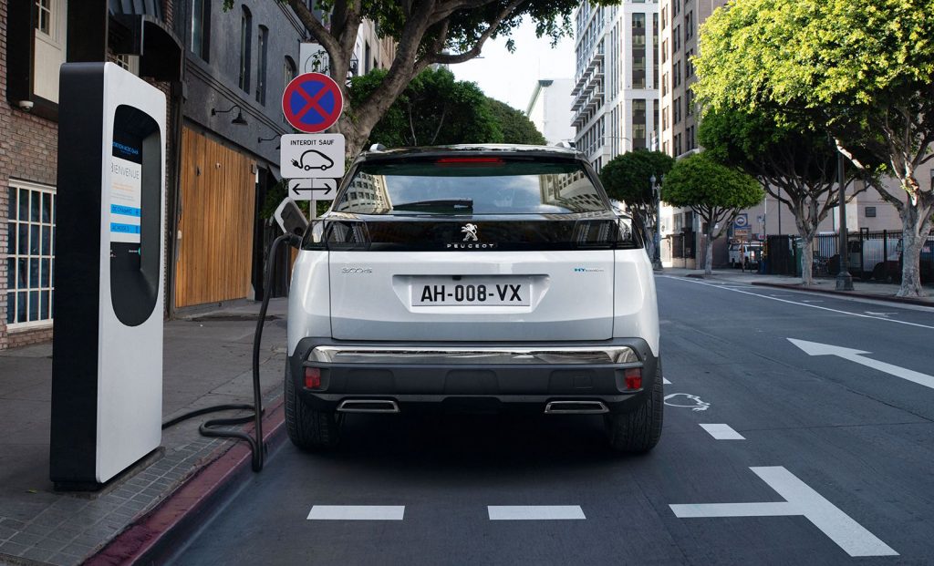
[(638, 364), (631, 347), (446, 347), (398, 348), (361, 346), (318, 346), (308, 361), (319, 363), (368, 364)]

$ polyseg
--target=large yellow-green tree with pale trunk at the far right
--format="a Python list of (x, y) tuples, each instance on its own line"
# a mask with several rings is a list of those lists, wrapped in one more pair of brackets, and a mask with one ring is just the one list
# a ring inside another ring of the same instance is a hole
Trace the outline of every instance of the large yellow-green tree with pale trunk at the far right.
[[(701, 28), (695, 92), (705, 104), (776, 105), (820, 120), (837, 149), (899, 210), (899, 296), (924, 296), (920, 253), (934, 188), (915, 172), (934, 154), (934, 0), (736, 0)], [(873, 163), (898, 178), (889, 191)]]

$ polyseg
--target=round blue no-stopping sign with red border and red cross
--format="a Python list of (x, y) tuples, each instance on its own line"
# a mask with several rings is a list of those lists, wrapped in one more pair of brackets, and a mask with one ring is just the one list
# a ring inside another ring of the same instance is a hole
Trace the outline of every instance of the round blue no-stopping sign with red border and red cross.
[(307, 134), (324, 132), (334, 125), (344, 109), (344, 97), (333, 78), (304, 73), (292, 78), (282, 93), (282, 113), (296, 130)]

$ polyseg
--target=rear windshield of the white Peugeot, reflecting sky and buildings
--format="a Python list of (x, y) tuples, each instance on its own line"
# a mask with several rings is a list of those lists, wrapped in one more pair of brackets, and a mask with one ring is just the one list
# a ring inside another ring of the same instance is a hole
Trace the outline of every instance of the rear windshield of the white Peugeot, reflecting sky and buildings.
[(581, 163), (450, 157), (363, 163), (333, 210), (381, 215), (575, 214), (606, 210)]

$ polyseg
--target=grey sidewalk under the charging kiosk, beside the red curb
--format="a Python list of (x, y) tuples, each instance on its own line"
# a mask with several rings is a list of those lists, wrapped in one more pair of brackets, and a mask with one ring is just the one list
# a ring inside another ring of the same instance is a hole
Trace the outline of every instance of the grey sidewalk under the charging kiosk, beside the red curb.
[[(244, 302), (165, 323), (163, 421), (205, 406), (252, 403), (259, 309)], [(263, 330), (267, 407), (281, 396), (286, 311), (286, 299), (273, 299)], [(162, 448), (100, 492), (56, 492), (49, 479), (51, 353), (51, 343), (0, 351), (0, 564), (82, 562), (237, 444), (198, 432), (205, 420), (233, 412), (194, 417), (163, 431)]]

